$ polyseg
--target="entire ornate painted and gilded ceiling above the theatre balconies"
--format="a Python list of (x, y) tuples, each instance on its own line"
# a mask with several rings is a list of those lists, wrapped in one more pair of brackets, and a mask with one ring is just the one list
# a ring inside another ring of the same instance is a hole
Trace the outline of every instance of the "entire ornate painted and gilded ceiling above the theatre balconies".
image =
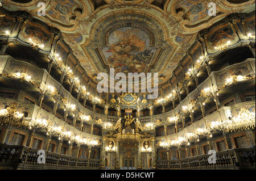
[[(18, 3), (19, 2), (19, 3)], [(22, 3), (23, 2), (23, 3)], [(39, 16), (39, 2), (46, 16)], [(216, 16), (208, 4), (216, 3)], [(58, 28), (89, 77), (97, 73), (158, 72), (166, 82), (200, 30), (233, 12), (251, 12), (255, 0), (3, 0)]]

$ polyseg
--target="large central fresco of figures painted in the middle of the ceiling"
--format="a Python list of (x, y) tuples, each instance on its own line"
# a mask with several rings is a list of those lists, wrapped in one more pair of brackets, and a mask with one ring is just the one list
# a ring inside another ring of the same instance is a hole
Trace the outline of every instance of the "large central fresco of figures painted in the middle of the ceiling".
[(109, 47), (102, 48), (109, 67), (114, 68), (115, 73), (144, 72), (155, 50), (150, 45), (147, 33), (133, 27), (123, 27), (112, 32)]

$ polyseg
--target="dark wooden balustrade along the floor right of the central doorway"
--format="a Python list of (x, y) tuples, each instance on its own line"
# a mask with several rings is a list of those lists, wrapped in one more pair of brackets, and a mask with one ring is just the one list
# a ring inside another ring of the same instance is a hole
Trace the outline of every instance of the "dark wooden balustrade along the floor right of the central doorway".
[(230, 149), (216, 153), (216, 163), (209, 163), (210, 155), (177, 160), (156, 161), (157, 169), (255, 169), (255, 148)]

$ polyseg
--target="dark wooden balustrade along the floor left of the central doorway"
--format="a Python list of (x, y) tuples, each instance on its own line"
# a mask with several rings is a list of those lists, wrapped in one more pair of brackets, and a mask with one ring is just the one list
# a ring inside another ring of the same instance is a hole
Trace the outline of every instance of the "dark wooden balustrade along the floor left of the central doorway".
[(45, 152), (46, 163), (38, 163), (38, 149), (0, 144), (0, 169), (100, 169), (100, 159)]

